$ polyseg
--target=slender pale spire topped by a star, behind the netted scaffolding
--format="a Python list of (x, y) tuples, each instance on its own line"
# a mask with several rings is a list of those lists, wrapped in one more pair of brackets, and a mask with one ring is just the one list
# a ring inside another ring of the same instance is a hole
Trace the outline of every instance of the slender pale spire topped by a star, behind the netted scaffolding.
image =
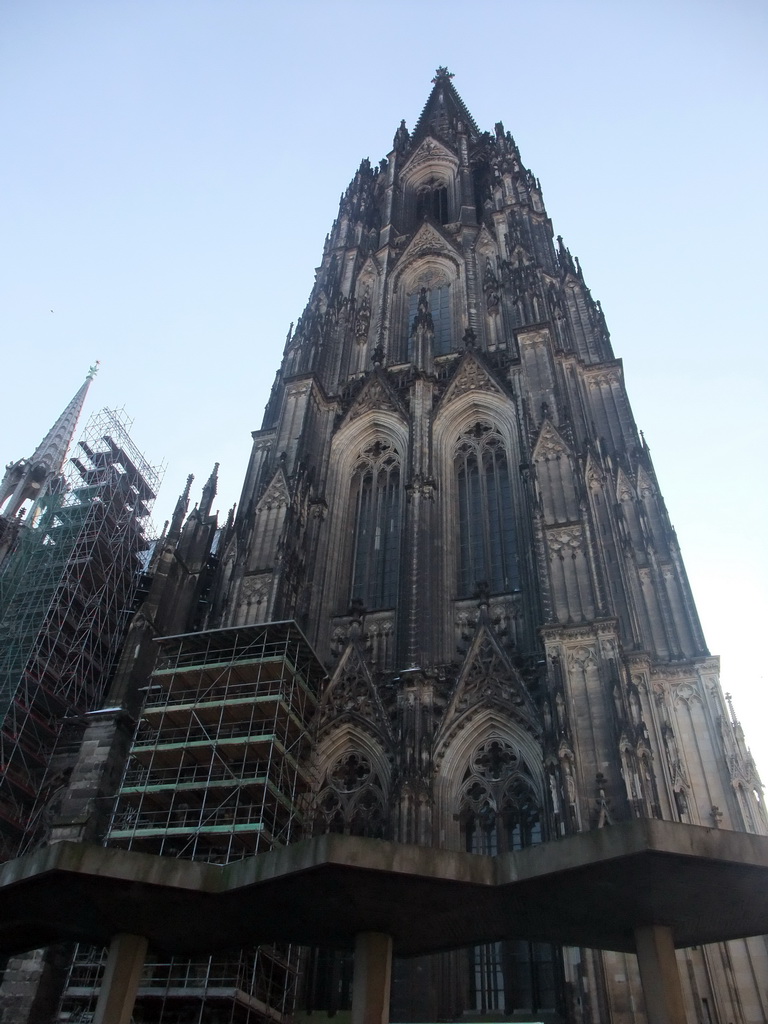
[(5, 475), (0, 482), (0, 509), (7, 503), (3, 509), (5, 515), (16, 515), (26, 501), (37, 501), (49, 493), (60, 477), (67, 453), (83, 411), (85, 396), (97, 372), (98, 361), (89, 369), (80, 388), (35, 449), (32, 457), (19, 459), (18, 462), (6, 466)]

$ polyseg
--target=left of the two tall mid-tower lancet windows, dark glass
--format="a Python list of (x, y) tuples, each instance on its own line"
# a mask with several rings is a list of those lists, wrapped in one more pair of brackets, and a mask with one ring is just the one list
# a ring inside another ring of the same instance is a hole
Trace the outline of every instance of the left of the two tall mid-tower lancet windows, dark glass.
[(400, 460), (389, 444), (375, 441), (362, 453), (352, 478), (355, 510), (353, 601), (369, 610), (397, 601), (402, 490)]

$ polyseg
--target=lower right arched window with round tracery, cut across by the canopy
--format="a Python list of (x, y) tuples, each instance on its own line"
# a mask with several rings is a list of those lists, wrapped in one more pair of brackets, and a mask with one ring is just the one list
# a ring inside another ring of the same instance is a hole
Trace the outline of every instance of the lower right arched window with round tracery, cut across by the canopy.
[[(478, 746), (462, 784), (459, 817), (469, 853), (496, 855), (543, 840), (543, 808), (520, 752), (501, 738)], [(555, 1010), (561, 972), (545, 942), (490, 942), (470, 951), (470, 993), (479, 1013)]]

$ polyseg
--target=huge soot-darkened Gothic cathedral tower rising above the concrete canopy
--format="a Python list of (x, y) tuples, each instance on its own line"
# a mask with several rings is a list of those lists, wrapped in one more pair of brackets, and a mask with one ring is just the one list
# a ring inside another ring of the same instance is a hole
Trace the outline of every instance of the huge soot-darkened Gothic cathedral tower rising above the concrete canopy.
[[(765, 831), (600, 304), (452, 78), (342, 198), (209, 625), (295, 620), (330, 667), (316, 830), (478, 852), (632, 817)], [(762, 940), (680, 956), (691, 1020), (766, 1019)], [(639, 1024), (633, 959), (492, 945), (404, 972), (393, 1010)], [(343, 1002), (342, 975), (307, 1005)]]

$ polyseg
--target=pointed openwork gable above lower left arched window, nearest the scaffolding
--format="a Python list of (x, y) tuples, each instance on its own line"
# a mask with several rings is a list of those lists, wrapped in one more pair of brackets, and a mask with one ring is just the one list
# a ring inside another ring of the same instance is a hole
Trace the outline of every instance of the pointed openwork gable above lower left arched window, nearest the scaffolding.
[(317, 709), (317, 737), (342, 725), (356, 725), (386, 748), (392, 738), (368, 659), (356, 640), (344, 648)]

